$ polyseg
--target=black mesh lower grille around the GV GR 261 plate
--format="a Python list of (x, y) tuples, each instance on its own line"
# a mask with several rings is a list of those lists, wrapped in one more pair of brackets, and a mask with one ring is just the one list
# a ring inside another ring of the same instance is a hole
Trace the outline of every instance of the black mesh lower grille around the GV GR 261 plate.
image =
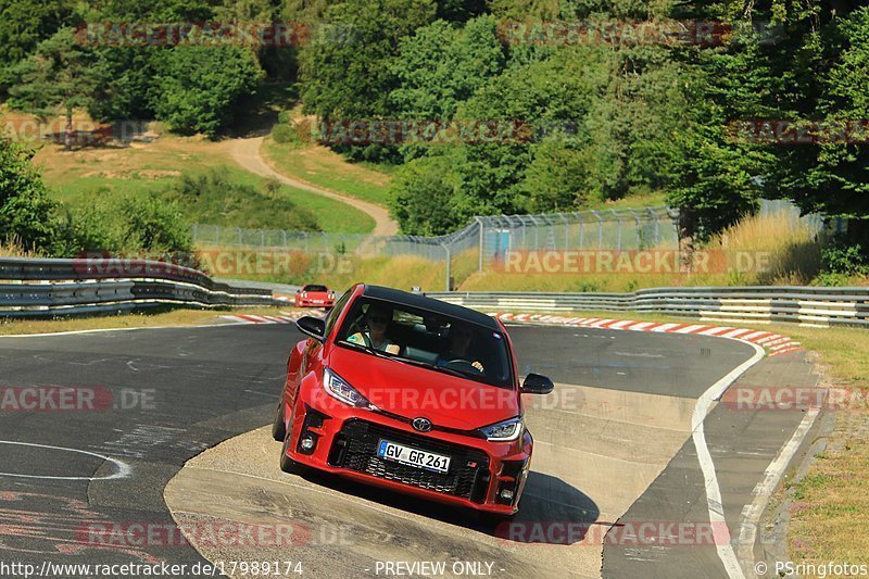
[[(377, 443), (381, 438), (445, 454), (451, 457), (450, 471), (432, 473), (383, 461), (377, 456)], [(484, 452), (358, 419), (344, 423), (344, 427), (336, 436), (329, 453), (329, 464), (420, 489), (462, 496), (476, 503), (484, 502), (489, 490), (489, 456)]]

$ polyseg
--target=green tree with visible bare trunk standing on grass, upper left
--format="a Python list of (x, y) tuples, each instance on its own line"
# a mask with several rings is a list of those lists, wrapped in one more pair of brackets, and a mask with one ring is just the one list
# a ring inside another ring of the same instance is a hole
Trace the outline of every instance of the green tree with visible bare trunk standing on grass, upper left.
[(92, 109), (95, 93), (105, 80), (97, 56), (79, 45), (72, 28), (62, 28), (39, 43), (36, 52), (14, 68), (9, 103), (47, 118), (59, 109), (66, 116), (66, 149), (73, 137), (75, 109)]

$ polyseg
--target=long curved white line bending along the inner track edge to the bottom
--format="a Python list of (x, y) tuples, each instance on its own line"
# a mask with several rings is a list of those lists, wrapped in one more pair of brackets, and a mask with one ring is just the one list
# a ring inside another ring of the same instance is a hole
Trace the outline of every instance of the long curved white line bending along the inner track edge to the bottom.
[[(747, 331), (747, 330), (746, 330)], [(713, 527), (713, 536), (715, 537), (715, 547), (718, 551), (718, 558), (725, 565), (730, 579), (744, 579), (745, 575), (742, 572), (742, 567), (733, 552), (733, 545), (730, 544), (730, 530), (725, 520), (725, 507), (721, 502), (721, 489), (718, 486), (718, 477), (715, 473), (715, 463), (713, 463), (709, 449), (706, 446), (706, 435), (703, 431), (703, 423), (709, 414), (709, 408), (714, 401), (721, 398), (721, 394), (735, 382), (740, 376), (760, 362), (764, 357), (764, 349), (757, 344), (748, 342), (755, 349), (754, 355), (730, 370), (727, 376), (710, 386), (697, 400), (694, 406), (694, 413), (691, 416), (692, 439), (694, 440), (694, 448), (697, 451), (697, 460), (700, 461), (701, 470), (703, 470), (703, 478), (706, 487), (706, 508), (709, 512), (709, 523)]]

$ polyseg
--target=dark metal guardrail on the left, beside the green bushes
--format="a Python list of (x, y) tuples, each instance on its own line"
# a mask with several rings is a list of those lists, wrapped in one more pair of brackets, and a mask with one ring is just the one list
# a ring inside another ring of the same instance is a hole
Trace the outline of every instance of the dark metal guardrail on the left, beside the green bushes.
[(197, 269), (162, 262), (0, 257), (0, 317), (285, 303), (270, 290), (232, 287)]

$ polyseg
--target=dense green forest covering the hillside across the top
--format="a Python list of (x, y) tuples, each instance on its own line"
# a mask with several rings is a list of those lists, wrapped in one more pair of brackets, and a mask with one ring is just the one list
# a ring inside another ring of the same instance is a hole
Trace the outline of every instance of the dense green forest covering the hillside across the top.
[[(238, 128), (261, 83), (279, 79), (298, 83), (305, 112), (322, 119), (507, 119), (533, 127), (533, 138), (519, 142), (336, 146), (351, 159), (396, 166), (391, 210), (407, 234), (449, 232), (479, 214), (571, 211), (664, 192), (682, 210), (685, 238), (707, 238), (766, 197), (848, 216), (846, 241), (869, 247), (866, 144), (776, 147), (739, 141), (728, 130), (739, 119), (867, 118), (867, 7), (0, 0), (0, 98), (39, 114), (86, 108), (102, 119), (158, 118), (181, 134), (221, 138)], [(671, 20), (716, 23), (727, 34), (719, 42), (669, 45), (540, 36), (541, 21)], [(76, 43), (76, 27), (109, 21), (279, 21), (310, 35), (293, 47)], [(518, 21), (536, 35), (531, 40), (543, 41), (507, 41)], [(23, 153), (3, 147), (4, 178), (23, 179), (5, 185), (3, 236), (48, 244), (50, 218), (22, 223), (54, 210)], [(293, 226), (315, 227), (300, 219)]]

